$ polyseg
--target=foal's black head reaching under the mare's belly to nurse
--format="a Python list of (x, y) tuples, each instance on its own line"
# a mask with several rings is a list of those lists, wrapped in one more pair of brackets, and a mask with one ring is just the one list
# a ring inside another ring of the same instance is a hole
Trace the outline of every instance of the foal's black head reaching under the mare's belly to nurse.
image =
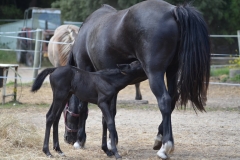
[(133, 61), (130, 64), (117, 64), (120, 72), (124, 75), (130, 76), (131, 84), (139, 83), (147, 79), (147, 76), (139, 61)]

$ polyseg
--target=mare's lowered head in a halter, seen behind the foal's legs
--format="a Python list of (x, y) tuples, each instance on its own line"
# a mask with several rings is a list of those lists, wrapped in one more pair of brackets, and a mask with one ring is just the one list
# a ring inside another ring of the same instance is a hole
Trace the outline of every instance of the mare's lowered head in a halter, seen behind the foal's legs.
[(78, 122), (79, 122), (79, 100), (72, 96), (64, 109), (65, 133), (64, 141), (73, 144), (77, 141)]

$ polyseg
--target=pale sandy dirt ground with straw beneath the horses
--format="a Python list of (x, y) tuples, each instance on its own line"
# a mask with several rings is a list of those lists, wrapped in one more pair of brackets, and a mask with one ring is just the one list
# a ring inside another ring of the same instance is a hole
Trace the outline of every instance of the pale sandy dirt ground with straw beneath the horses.
[[(11, 90), (11, 88), (9, 89)], [(22, 91), (21, 91), (22, 90)], [(41, 151), (45, 115), (52, 100), (50, 85), (44, 84), (39, 92), (30, 93), (30, 85), (18, 87), (18, 99), (27, 107), (0, 108), (0, 118), (14, 117), (19, 123), (36, 128), (40, 141), (35, 147), (3, 147), (8, 145), (6, 139), (0, 139), (0, 159), (47, 159)], [(155, 160), (157, 151), (152, 150), (157, 128), (161, 122), (156, 99), (151, 93), (148, 81), (141, 83), (143, 99), (149, 104), (118, 104), (116, 127), (119, 135), (118, 150), (122, 159)], [(133, 100), (134, 86), (128, 86), (119, 93), (118, 100)], [(120, 101), (119, 101), (120, 102)], [(16, 104), (17, 105), (17, 104)], [(240, 87), (210, 85), (206, 113), (196, 114), (189, 106), (187, 110), (174, 110), (172, 128), (175, 151), (170, 159), (177, 160), (240, 160)], [(1, 124), (1, 123), (0, 123)], [(59, 127), (60, 146), (66, 157), (56, 159), (91, 160), (108, 158), (101, 151), (101, 112), (96, 106), (90, 106), (86, 132), (85, 149), (75, 150), (63, 141), (64, 123), (61, 117)], [(1, 126), (0, 126), (1, 127)], [(1, 138), (1, 137), (0, 137)], [(10, 145), (11, 146), (11, 145)], [(50, 149), (52, 140), (50, 140)]]

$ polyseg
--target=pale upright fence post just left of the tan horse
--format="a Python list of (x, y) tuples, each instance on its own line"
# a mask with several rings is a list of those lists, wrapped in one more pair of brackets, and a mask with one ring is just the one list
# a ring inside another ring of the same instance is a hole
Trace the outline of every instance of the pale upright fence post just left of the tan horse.
[(42, 30), (37, 29), (36, 41), (35, 41), (35, 52), (34, 52), (34, 64), (33, 64), (33, 81), (38, 75), (38, 68), (40, 62), (40, 41), (42, 40)]

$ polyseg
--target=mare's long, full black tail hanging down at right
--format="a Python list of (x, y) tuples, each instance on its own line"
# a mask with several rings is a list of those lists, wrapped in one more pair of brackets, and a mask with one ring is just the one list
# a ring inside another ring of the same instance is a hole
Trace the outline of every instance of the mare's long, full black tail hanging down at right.
[(194, 7), (180, 5), (174, 9), (179, 24), (179, 81), (180, 103), (192, 101), (194, 109), (205, 111), (205, 98), (210, 76), (210, 42), (207, 25)]

